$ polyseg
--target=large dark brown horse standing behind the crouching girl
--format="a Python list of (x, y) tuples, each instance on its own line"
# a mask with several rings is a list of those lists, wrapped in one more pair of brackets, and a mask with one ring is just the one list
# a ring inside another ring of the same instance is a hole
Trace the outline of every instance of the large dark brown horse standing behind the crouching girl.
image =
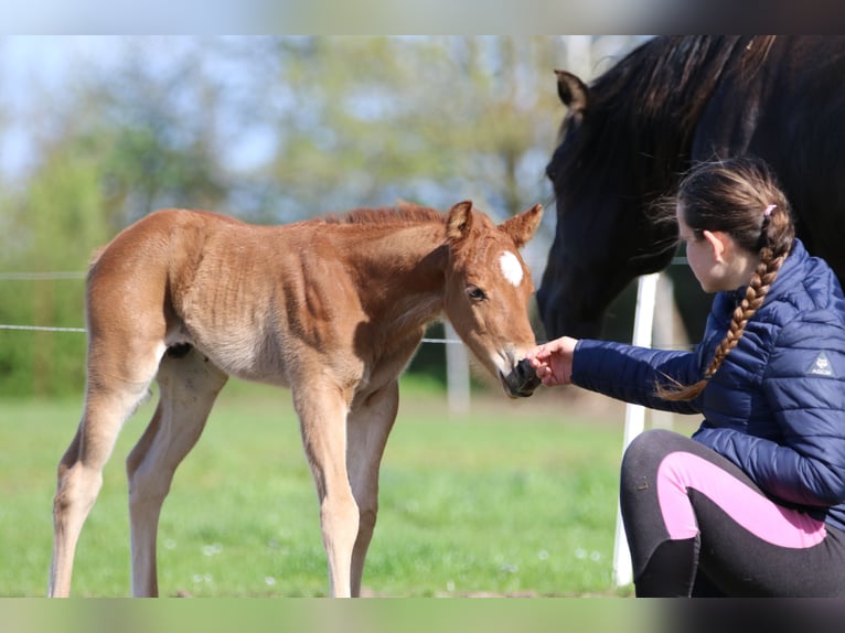
[(537, 303), (548, 337), (598, 336), (639, 275), (666, 267), (676, 227), (650, 221), (697, 160), (753, 153), (778, 173), (811, 253), (845, 278), (845, 39), (656, 37), (568, 107), (547, 168), (557, 232)]

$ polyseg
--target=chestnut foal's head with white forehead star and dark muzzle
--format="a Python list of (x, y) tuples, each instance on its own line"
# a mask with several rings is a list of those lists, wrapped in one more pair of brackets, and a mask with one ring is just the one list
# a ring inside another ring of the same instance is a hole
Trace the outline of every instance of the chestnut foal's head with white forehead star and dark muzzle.
[(531, 396), (539, 385), (525, 361), (535, 345), (528, 321), (534, 285), (518, 249), (534, 235), (542, 214), (536, 205), (496, 226), (471, 202), (462, 202), (446, 223), (446, 315), (512, 398)]

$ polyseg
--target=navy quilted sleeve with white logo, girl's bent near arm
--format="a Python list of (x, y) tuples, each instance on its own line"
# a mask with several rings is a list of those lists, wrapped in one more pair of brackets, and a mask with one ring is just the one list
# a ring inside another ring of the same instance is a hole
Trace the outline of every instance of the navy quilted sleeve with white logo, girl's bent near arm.
[(695, 439), (730, 459), (770, 495), (810, 506), (845, 500), (845, 331), (824, 313), (784, 326), (762, 379), (778, 441), (727, 428)]

